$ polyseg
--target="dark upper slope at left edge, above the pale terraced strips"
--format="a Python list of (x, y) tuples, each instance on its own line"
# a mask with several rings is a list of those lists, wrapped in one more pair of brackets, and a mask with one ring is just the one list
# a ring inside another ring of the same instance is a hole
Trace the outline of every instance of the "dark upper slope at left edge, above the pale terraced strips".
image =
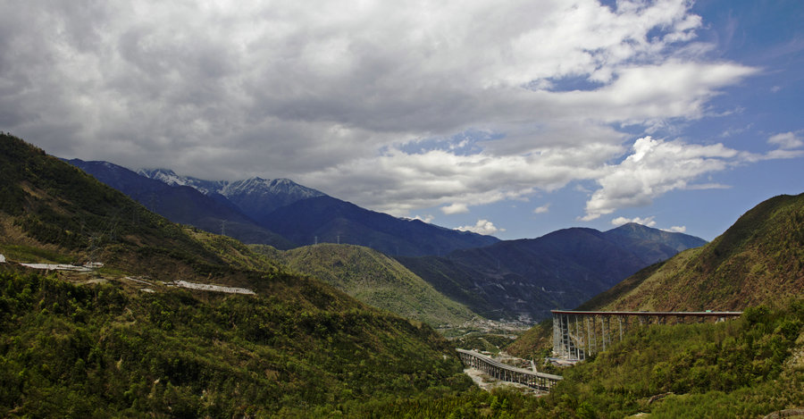
[[(204, 277), (246, 284), (254, 268), (278, 270), (230, 239), (147, 211), (121, 192), (11, 135), (0, 135), (0, 254), (13, 262), (102, 262), (102, 272), (163, 281)], [(251, 254), (231, 264), (233, 254)]]

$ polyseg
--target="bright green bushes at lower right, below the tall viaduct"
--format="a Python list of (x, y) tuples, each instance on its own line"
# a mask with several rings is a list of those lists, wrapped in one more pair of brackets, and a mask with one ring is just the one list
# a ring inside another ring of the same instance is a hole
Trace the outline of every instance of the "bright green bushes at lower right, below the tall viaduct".
[(416, 401), (406, 412), (437, 412), (433, 417), (621, 418), (641, 413), (649, 418), (753, 418), (801, 408), (802, 325), (804, 299), (779, 308), (751, 308), (739, 320), (724, 323), (651, 325), (561, 370), (564, 381), (542, 398), (512, 390), (468, 391)]

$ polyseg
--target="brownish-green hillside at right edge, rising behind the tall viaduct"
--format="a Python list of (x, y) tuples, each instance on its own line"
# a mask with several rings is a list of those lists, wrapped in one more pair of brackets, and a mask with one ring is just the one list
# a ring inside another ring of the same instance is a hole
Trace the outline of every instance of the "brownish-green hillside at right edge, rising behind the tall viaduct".
[(804, 194), (773, 197), (704, 247), (636, 273), (586, 309), (741, 310), (804, 289)]

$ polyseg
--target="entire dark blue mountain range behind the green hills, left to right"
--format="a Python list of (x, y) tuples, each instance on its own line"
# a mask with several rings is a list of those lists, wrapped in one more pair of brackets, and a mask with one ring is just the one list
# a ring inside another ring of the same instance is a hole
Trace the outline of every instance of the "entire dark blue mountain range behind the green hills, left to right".
[[(565, 229), (538, 239), (500, 241), (373, 212), (286, 179), (200, 180), (165, 169), (132, 172), (107, 162), (69, 162), (174, 222), (245, 243), (281, 250), (325, 242), (373, 248), (397, 257), (406, 270), (452, 304), (496, 320), (529, 323), (545, 318), (550, 309), (577, 306), (649, 264), (706, 243), (639, 224), (606, 232)], [(348, 281), (330, 282), (347, 292), (355, 290)], [(397, 292), (411, 301), (418, 293), (404, 287)], [(377, 302), (365, 294), (350, 295), (369, 304)], [(412, 313), (401, 306), (395, 312)], [(430, 314), (415, 318), (435, 324), (455, 319), (449, 316), (438, 322)]]

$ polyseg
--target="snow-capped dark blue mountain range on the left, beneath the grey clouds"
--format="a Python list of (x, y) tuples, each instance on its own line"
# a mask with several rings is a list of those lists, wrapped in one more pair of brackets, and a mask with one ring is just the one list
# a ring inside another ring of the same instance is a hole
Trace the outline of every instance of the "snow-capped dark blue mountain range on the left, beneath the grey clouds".
[(108, 162), (69, 163), (173, 222), (248, 244), (288, 249), (349, 243), (388, 255), (423, 256), (499, 241), (366, 210), (287, 179), (200, 180), (165, 169), (133, 172)]

